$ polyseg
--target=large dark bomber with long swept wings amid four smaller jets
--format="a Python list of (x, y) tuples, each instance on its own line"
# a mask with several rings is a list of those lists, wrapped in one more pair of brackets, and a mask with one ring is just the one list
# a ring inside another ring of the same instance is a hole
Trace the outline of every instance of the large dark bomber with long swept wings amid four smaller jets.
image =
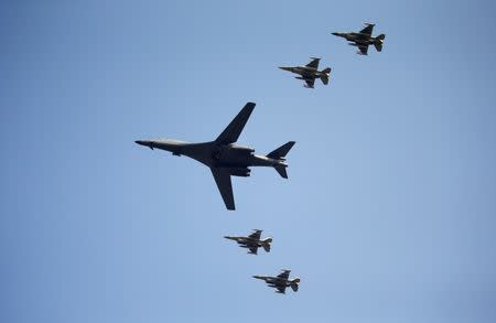
[(227, 209), (235, 209), (230, 176), (248, 177), (249, 166), (271, 166), (284, 179), (288, 179), (284, 161), (285, 154), (293, 147), (289, 141), (267, 155), (255, 154), (248, 147), (237, 146), (238, 140), (255, 104), (247, 103), (241, 111), (230, 121), (227, 128), (214, 141), (190, 143), (171, 139), (138, 140), (136, 143), (172, 152), (173, 155), (186, 155), (208, 166), (214, 175), (218, 191)]

